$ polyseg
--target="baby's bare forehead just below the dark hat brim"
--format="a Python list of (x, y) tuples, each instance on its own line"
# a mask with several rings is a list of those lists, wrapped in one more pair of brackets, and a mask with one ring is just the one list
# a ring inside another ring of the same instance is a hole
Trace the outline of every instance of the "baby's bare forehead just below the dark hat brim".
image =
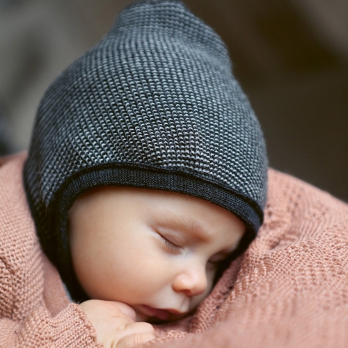
[[(129, 219), (142, 221), (154, 228), (182, 235), (214, 240), (214, 235), (245, 229), (244, 223), (227, 209), (203, 198), (163, 189), (103, 186), (80, 196), (77, 205), (101, 209), (109, 214), (125, 212)], [(231, 232), (231, 233), (232, 233)], [(229, 238), (226, 238), (228, 244)]]

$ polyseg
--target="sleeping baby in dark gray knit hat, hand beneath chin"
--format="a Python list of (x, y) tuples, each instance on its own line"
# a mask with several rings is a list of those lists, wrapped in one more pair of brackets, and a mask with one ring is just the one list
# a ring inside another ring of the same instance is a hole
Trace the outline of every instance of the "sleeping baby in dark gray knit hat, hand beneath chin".
[(255, 238), (267, 194), (262, 131), (219, 35), (178, 1), (125, 8), (47, 89), (24, 184), (79, 303), (54, 324), (61, 347), (95, 347), (69, 333), (79, 310), (106, 348), (192, 315)]

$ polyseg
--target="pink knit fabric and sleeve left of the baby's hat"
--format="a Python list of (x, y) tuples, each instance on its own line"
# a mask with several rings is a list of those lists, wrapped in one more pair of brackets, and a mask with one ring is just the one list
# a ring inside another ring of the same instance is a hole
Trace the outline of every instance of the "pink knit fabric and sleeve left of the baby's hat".
[(99, 347), (42, 253), (23, 187), (25, 155), (0, 162), (0, 347)]

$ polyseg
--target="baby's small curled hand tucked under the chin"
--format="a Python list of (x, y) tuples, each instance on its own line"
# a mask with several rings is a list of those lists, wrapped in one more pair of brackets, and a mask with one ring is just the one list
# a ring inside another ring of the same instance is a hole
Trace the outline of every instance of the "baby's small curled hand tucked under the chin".
[(104, 348), (133, 348), (155, 338), (151, 324), (135, 322), (136, 314), (125, 303), (88, 300), (79, 305), (97, 331)]

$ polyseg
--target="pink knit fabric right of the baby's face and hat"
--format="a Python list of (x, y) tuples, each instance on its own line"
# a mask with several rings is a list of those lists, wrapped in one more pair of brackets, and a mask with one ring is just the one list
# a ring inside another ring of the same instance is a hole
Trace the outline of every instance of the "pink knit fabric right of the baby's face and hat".
[(347, 347), (347, 266), (347, 204), (269, 170), (258, 237), (201, 304), (189, 335), (154, 347)]

